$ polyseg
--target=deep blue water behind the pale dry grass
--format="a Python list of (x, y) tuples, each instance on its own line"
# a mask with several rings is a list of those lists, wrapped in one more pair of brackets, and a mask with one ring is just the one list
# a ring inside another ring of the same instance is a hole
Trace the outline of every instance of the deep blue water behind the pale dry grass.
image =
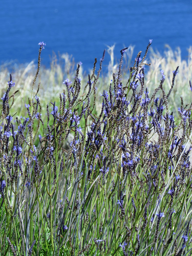
[[(179, 46), (182, 58), (192, 45), (192, 4), (189, 0), (6, 0), (0, 8), (0, 62), (30, 62), (38, 57), (38, 43), (46, 42), (42, 65), (50, 66), (54, 51), (68, 52), (83, 69), (92, 68), (106, 45), (114, 54), (135, 45), (145, 51), (149, 39), (163, 54), (165, 44)], [(135, 56), (134, 56), (135, 57)], [(106, 55), (104, 65), (109, 63)]]

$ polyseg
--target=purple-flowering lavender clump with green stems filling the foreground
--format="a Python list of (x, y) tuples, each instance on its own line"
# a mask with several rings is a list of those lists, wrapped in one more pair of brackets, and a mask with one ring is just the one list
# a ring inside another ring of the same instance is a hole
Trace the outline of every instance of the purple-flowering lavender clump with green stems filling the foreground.
[(163, 70), (153, 93), (145, 87), (151, 44), (125, 84), (127, 48), (109, 92), (97, 94), (104, 51), (83, 94), (80, 63), (74, 82), (65, 78), (60, 103), (42, 106), (40, 84), (34, 93), (40, 42), (24, 117), (14, 110), (10, 74), (0, 114), (2, 255), (191, 255), (192, 103), (181, 97), (179, 119), (169, 110), (179, 67), (168, 94)]

